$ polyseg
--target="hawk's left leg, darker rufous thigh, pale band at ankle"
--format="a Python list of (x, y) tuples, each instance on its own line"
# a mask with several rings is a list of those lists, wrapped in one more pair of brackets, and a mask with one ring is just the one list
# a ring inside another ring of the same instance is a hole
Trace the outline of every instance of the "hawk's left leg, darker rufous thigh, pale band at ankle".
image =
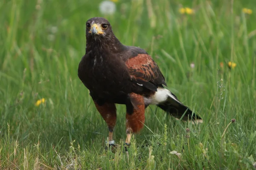
[(108, 125), (108, 141), (106, 141), (109, 145), (115, 146), (115, 141), (113, 140), (113, 130), (116, 125), (116, 105), (114, 103), (104, 103), (103, 105), (98, 105), (96, 101), (94, 101), (95, 106), (102, 118)]

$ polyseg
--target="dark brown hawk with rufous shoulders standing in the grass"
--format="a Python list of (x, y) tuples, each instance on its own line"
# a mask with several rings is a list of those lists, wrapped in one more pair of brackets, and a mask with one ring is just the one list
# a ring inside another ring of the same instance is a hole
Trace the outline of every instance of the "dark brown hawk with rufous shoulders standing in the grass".
[(152, 57), (142, 48), (123, 45), (105, 18), (86, 22), (86, 52), (78, 77), (108, 125), (109, 144), (114, 144), (115, 104), (126, 105), (126, 145), (131, 134), (143, 128), (148, 105), (157, 105), (176, 118), (201, 119), (164, 88), (165, 78)]

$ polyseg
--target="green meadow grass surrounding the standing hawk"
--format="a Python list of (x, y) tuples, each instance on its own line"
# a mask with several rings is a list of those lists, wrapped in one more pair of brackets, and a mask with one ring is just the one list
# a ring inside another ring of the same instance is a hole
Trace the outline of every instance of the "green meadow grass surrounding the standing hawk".
[[(99, 3), (0, 1), (0, 169), (255, 168), (254, 0), (120, 0), (113, 15), (100, 14)], [(180, 14), (182, 5), (195, 14)], [(105, 151), (107, 126), (77, 76), (85, 22), (95, 16), (106, 17), (125, 45), (147, 50), (168, 88), (204, 123), (151, 106), (127, 157), (125, 107), (118, 105), (121, 147)]]

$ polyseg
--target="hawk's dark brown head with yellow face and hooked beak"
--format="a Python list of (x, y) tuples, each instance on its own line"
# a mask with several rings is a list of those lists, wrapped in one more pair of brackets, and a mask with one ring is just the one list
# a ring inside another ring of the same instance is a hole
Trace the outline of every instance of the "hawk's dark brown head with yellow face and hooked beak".
[(87, 39), (105, 39), (111, 37), (113, 31), (108, 20), (102, 17), (90, 18), (86, 22), (86, 38)]

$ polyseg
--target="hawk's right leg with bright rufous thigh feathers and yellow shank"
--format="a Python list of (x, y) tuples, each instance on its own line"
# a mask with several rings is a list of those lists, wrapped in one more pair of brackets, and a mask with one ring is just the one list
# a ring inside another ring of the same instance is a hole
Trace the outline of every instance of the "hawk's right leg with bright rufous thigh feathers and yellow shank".
[(130, 145), (132, 133), (139, 132), (145, 122), (145, 105), (143, 96), (139, 94), (130, 94), (133, 104), (128, 103), (126, 105), (126, 139), (125, 139), (125, 151), (126, 146)]

